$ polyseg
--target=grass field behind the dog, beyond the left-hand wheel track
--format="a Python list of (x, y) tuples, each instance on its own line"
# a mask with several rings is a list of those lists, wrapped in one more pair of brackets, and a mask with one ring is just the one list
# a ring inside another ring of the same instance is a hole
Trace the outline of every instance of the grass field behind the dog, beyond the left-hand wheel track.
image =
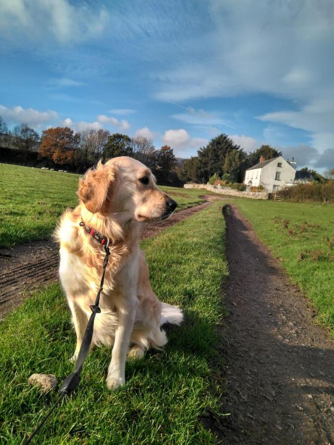
[[(48, 238), (62, 212), (76, 206), (79, 177), (0, 164), (0, 247)], [(201, 190), (161, 188), (177, 201), (177, 210), (204, 202)]]

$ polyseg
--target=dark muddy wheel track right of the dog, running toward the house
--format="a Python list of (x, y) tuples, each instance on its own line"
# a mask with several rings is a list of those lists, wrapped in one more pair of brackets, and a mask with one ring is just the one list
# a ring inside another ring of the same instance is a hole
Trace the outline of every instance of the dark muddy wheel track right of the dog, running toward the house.
[(222, 444), (334, 444), (334, 343), (235, 206), (225, 206)]

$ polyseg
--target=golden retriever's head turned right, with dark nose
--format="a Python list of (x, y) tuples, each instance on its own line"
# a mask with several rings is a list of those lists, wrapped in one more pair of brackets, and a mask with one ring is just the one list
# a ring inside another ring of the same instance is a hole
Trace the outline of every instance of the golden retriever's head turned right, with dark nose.
[(126, 212), (137, 221), (164, 220), (177, 206), (144, 164), (125, 156), (88, 170), (79, 181), (78, 196), (91, 213)]

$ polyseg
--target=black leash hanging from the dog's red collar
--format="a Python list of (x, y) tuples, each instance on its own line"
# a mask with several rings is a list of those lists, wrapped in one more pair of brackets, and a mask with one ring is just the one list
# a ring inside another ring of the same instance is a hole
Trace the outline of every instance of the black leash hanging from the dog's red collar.
[(88, 320), (88, 323), (87, 323), (87, 327), (86, 327), (86, 330), (84, 332), (83, 342), (81, 344), (81, 348), (80, 348), (80, 351), (79, 351), (79, 354), (78, 354), (75, 370), (74, 370), (74, 372), (72, 372), (72, 374), (70, 374), (68, 377), (66, 377), (66, 379), (63, 381), (63, 383), (61, 384), (61, 387), (59, 389), (60, 395), (59, 395), (58, 399), (56, 400), (54, 405), (51, 407), (51, 409), (48, 411), (46, 416), (42, 419), (42, 421), (40, 422), (38, 427), (33, 431), (31, 436), (29, 437), (29, 439), (24, 443), (24, 445), (30, 444), (30, 442), (32, 441), (33, 437), (36, 436), (36, 434), (40, 431), (40, 429), (44, 425), (45, 421), (52, 414), (52, 412), (54, 411), (55, 407), (59, 404), (59, 402), (62, 400), (62, 398), (64, 396), (70, 394), (79, 385), (80, 373), (81, 373), (81, 370), (83, 368), (84, 360), (88, 356), (89, 348), (90, 348), (90, 344), (91, 344), (91, 339), (92, 339), (92, 336), (93, 336), (95, 315), (97, 313), (101, 312), (101, 309), (99, 308), (99, 302), (100, 302), (100, 295), (101, 295), (101, 292), (103, 290), (104, 274), (106, 272), (106, 267), (107, 267), (108, 260), (109, 260), (109, 255), (110, 255), (110, 250), (109, 250), (108, 246), (109, 246), (109, 240), (107, 241), (107, 244), (105, 246), (103, 246), (104, 247), (104, 251), (106, 253), (106, 256), (104, 257), (104, 261), (103, 261), (103, 273), (102, 273), (100, 288), (99, 288), (99, 290), (97, 292), (97, 295), (96, 295), (95, 304), (90, 306), (90, 309), (91, 309), (92, 313), (91, 313), (91, 315), (89, 317), (89, 320)]

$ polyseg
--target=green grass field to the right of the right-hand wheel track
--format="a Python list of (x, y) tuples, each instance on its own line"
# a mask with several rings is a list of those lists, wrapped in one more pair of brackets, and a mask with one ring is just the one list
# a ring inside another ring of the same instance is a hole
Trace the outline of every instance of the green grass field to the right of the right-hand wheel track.
[(334, 206), (233, 199), (334, 335)]

